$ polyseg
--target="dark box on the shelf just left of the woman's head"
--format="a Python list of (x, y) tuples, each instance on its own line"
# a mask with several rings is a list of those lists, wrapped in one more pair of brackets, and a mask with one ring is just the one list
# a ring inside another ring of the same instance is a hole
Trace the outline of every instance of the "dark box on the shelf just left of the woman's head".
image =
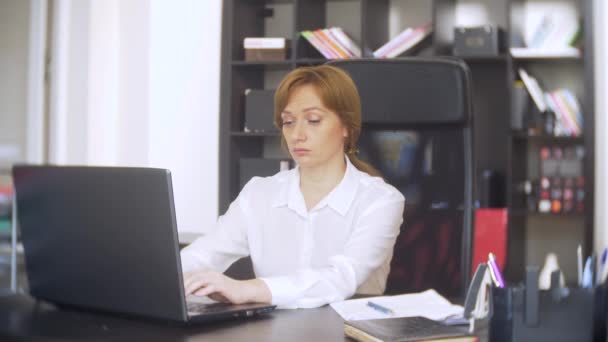
[(245, 91), (245, 132), (278, 132), (274, 125), (274, 90)]

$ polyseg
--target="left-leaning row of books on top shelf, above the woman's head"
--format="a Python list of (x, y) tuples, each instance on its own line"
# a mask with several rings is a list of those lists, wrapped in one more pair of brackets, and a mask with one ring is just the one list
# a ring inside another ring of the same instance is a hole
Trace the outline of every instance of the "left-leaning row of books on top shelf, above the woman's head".
[(361, 57), (361, 48), (340, 27), (304, 30), (300, 35), (327, 59)]

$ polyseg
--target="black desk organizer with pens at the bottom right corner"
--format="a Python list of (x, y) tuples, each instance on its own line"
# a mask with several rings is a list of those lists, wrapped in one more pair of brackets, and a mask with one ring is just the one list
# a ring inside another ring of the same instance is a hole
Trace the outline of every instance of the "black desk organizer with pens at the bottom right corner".
[(605, 341), (605, 286), (565, 288), (552, 278), (549, 290), (539, 290), (532, 279), (491, 288), (490, 341)]

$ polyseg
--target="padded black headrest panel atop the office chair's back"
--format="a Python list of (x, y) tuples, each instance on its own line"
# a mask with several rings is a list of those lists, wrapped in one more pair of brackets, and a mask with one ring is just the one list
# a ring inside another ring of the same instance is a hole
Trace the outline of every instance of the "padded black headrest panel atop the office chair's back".
[(361, 97), (363, 123), (462, 125), (471, 121), (470, 72), (456, 58), (338, 60)]

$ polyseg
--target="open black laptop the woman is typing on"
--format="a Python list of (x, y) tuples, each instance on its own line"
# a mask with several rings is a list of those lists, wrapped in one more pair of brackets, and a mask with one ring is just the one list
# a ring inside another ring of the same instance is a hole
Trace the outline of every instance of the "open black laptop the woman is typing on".
[(22, 165), (13, 180), (38, 299), (179, 322), (274, 309), (186, 302), (168, 170)]

